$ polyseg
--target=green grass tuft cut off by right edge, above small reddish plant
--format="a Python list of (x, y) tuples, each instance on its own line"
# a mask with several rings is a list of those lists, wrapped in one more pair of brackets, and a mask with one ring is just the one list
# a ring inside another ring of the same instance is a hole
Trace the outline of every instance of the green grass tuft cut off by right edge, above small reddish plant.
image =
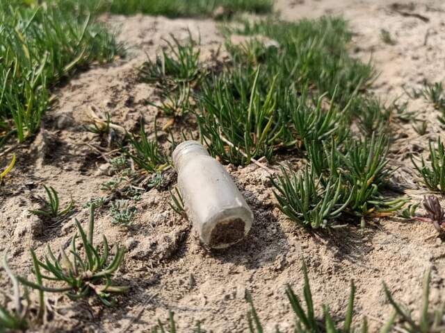
[(415, 162), (414, 156), (411, 155), (412, 164), (414, 164), (414, 168), (419, 171), (428, 189), (445, 193), (445, 146), (439, 137), (437, 139), (437, 146), (433, 145), (430, 140), (429, 148), (429, 163), (421, 157), (421, 164), (418, 164)]

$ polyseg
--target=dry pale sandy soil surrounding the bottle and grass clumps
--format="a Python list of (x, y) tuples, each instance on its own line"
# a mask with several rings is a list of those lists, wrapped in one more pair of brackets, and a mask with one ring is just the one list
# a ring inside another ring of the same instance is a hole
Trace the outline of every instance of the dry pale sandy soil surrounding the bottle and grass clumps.
[[(351, 52), (365, 61), (371, 58), (380, 71), (372, 91), (383, 101), (403, 95), (404, 87), (420, 87), (424, 79), (444, 80), (445, 4), (441, 0), (414, 5), (382, 0), (279, 0), (276, 9), (288, 20), (325, 14), (346, 17), (355, 32)], [(57, 102), (45, 116), (40, 134), (18, 151), (19, 163), (11, 173), (14, 183), (0, 189), (0, 250), (9, 247), (10, 266), (22, 275), (30, 273), (30, 247), (43, 255), (47, 244), (58, 248), (75, 232), (72, 219), (49, 226), (29, 214), (30, 208), (38, 208), (35, 196), (43, 195), (41, 184), (58, 189), (64, 202), (72, 196), (77, 207), (71, 217), (83, 223), (88, 212), (82, 205), (106, 195), (101, 184), (111, 177), (100, 170), (105, 153), (98, 153), (100, 142), (83, 129), (88, 109), (95, 106), (102, 115), (109, 112), (113, 122), (128, 129), (136, 126), (141, 115), (150, 123), (156, 110), (149, 102), (159, 100), (159, 89), (136, 80), (145, 53), (154, 56), (163, 44), (161, 38), (169, 33), (184, 40), (187, 28), (200, 33), (203, 59), (223, 42), (211, 20), (142, 15), (102, 19), (120, 33), (120, 40), (129, 46), (129, 58), (93, 67), (54, 91)], [(382, 28), (395, 45), (382, 42)], [(401, 96), (399, 103), (405, 100)], [(411, 124), (395, 121), (391, 159), (401, 167), (395, 181), (407, 185), (407, 193), (420, 200), (426, 191), (417, 185), (408, 153), (425, 153), (428, 137), (436, 137), (441, 129), (431, 105), (422, 99), (409, 103), (419, 119), (430, 119), (428, 133), (420, 137)], [(254, 210), (254, 227), (245, 241), (224, 251), (204, 249), (188, 221), (169, 207), (168, 191), (145, 192), (136, 203), (138, 214), (129, 229), (111, 226), (108, 210), (101, 210), (95, 237), (99, 240), (103, 233), (111, 244), (120, 242), (129, 248), (116, 280), (131, 285), (131, 290), (110, 309), (93, 298), (71, 302), (49, 295), (57, 315), (41, 332), (147, 332), (158, 318), (167, 318), (169, 309), (175, 311), (180, 332), (191, 332), (196, 321), (207, 332), (243, 332), (249, 309), (246, 291), (252, 293), (266, 332), (275, 332), (275, 325), (290, 332), (293, 314), (284, 289), (290, 284), (300, 292), (301, 259), (309, 268), (316, 305), (327, 302), (339, 319), (346, 309), (350, 280), (355, 281), (357, 318), (369, 316), (370, 332), (391, 312), (382, 281), (396, 299), (418, 309), (423, 273), (432, 268), (430, 302), (445, 301), (444, 245), (432, 225), (381, 220), (364, 232), (352, 227), (321, 239), (296, 228), (277, 210), (266, 171), (254, 165), (227, 169)], [(174, 183), (172, 173), (170, 185)], [(5, 287), (7, 281), (1, 279), (0, 286)]]

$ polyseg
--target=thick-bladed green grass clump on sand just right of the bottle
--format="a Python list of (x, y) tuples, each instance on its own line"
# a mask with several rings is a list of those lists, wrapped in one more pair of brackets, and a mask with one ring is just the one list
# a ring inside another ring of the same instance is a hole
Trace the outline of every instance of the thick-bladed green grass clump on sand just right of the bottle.
[(278, 207), (293, 221), (312, 228), (330, 228), (339, 218), (387, 216), (399, 210), (405, 198), (382, 195), (391, 174), (387, 167), (388, 142), (384, 135), (348, 139), (344, 146), (316, 140), (307, 142), (309, 166), (300, 173), (271, 178)]

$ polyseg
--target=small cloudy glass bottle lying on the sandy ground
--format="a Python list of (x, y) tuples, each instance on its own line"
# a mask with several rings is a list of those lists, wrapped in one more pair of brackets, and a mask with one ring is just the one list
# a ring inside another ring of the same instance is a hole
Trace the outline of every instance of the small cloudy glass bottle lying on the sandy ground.
[(172, 154), (188, 219), (211, 248), (241, 241), (253, 214), (225, 168), (199, 142), (179, 144)]

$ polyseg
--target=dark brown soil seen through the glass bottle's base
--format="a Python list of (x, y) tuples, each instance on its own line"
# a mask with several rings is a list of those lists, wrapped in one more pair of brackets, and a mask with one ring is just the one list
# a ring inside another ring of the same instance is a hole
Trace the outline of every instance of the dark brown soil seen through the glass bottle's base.
[(221, 221), (211, 230), (210, 244), (212, 248), (227, 248), (244, 238), (245, 222), (243, 219), (229, 219)]

